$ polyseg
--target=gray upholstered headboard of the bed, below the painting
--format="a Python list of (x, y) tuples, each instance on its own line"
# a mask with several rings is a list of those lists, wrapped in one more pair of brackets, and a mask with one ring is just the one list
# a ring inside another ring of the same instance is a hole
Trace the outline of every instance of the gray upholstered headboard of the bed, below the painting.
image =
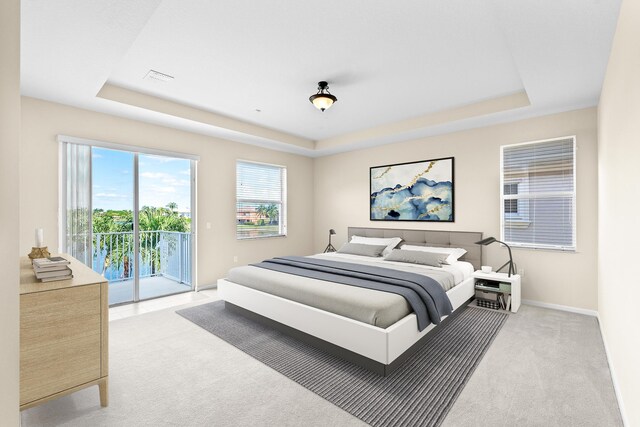
[(443, 248), (463, 248), (467, 250), (461, 261), (473, 264), (476, 270), (482, 265), (482, 246), (475, 242), (482, 240), (482, 232), (475, 231), (426, 231), (399, 230), (396, 228), (349, 227), (351, 236), (364, 237), (401, 237), (403, 244), (420, 246), (439, 246)]

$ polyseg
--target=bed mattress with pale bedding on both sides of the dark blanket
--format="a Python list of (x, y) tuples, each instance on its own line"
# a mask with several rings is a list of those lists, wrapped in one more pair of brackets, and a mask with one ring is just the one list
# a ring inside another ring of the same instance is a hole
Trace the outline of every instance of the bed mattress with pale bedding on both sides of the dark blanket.
[[(463, 282), (473, 273), (473, 266), (462, 261), (440, 268), (338, 253), (319, 254), (314, 255), (313, 258), (375, 265), (425, 274), (436, 279), (445, 291)], [(254, 266), (233, 268), (229, 271), (227, 279), (248, 288), (380, 328), (387, 328), (412, 312), (407, 301), (400, 295), (295, 276)]]

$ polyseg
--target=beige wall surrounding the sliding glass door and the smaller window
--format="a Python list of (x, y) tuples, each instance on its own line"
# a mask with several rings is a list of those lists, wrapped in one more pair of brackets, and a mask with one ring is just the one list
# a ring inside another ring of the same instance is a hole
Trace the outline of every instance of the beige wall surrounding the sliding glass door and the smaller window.
[[(308, 255), (313, 224), (313, 160), (60, 104), (22, 99), (20, 250), (28, 252), (33, 230), (58, 247), (58, 134), (200, 155), (198, 163), (198, 284), (213, 284), (234, 265), (279, 255)], [(288, 236), (238, 241), (235, 236), (235, 160), (284, 165), (288, 178)], [(209, 222), (211, 229), (206, 229)], [(238, 264), (233, 257), (238, 256)]]

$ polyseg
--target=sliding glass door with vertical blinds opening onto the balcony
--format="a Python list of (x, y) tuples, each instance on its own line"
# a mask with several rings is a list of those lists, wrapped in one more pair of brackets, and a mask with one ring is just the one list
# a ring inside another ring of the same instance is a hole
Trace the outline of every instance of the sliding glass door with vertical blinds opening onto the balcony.
[(193, 289), (195, 160), (63, 143), (62, 249), (109, 281), (109, 304)]

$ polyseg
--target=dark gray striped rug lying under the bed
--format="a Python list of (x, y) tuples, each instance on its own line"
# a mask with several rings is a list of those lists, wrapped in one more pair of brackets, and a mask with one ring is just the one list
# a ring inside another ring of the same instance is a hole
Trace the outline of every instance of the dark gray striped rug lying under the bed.
[(467, 308), (382, 377), (231, 313), (222, 301), (177, 313), (372, 426), (440, 425), (509, 316)]

